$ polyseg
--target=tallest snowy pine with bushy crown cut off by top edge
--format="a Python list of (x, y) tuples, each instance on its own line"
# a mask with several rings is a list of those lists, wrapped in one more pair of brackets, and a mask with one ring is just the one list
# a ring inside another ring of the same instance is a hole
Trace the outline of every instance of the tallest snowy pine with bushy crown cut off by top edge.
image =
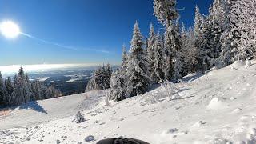
[[(165, 76), (168, 80), (174, 78), (174, 62), (178, 62), (178, 50), (181, 48), (180, 34), (178, 27), (178, 10), (176, 0), (154, 0), (154, 15), (162, 25), (166, 26), (165, 32)], [(173, 61), (174, 57), (176, 61)], [(176, 70), (177, 72), (177, 70)], [(175, 74), (177, 75), (177, 74)]]

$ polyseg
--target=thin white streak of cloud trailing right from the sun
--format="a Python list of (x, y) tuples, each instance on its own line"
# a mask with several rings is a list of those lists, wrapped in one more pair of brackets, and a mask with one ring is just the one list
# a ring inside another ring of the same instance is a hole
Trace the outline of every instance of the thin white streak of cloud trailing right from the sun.
[(108, 51), (108, 50), (95, 50), (95, 49), (90, 49), (90, 48), (78, 48), (78, 47), (74, 47), (74, 46), (66, 46), (66, 45), (62, 45), (62, 44), (57, 43), (57, 42), (46, 41), (42, 38), (37, 38), (37, 37), (34, 37), (33, 35), (30, 35), (30, 34), (26, 34), (26, 33), (22, 33), (22, 32), (21, 32), (21, 34), (23, 36), (26, 36), (27, 38), (32, 38), (32, 39), (37, 40), (39, 42), (43, 42), (43, 43), (46, 43), (46, 44), (62, 47), (66, 50), (76, 50), (76, 51), (78, 51), (78, 50), (90, 50), (90, 51), (100, 52), (100, 53), (104, 53), (104, 54), (110, 54), (110, 51)]

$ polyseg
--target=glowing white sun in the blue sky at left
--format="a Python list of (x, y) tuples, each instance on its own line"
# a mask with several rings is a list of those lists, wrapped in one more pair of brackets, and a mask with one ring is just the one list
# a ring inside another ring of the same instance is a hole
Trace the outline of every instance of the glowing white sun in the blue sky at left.
[(18, 25), (12, 21), (4, 21), (0, 23), (0, 32), (6, 38), (17, 38), (21, 31)]

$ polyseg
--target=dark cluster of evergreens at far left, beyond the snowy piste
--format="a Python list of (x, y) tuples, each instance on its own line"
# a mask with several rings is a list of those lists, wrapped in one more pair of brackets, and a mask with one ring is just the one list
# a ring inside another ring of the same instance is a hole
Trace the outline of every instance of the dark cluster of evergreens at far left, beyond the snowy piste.
[(3, 79), (0, 72), (0, 107), (17, 106), (26, 102), (62, 96), (54, 86), (45, 86), (43, 82), (30, 81), (21, 67), (14, 78)]

